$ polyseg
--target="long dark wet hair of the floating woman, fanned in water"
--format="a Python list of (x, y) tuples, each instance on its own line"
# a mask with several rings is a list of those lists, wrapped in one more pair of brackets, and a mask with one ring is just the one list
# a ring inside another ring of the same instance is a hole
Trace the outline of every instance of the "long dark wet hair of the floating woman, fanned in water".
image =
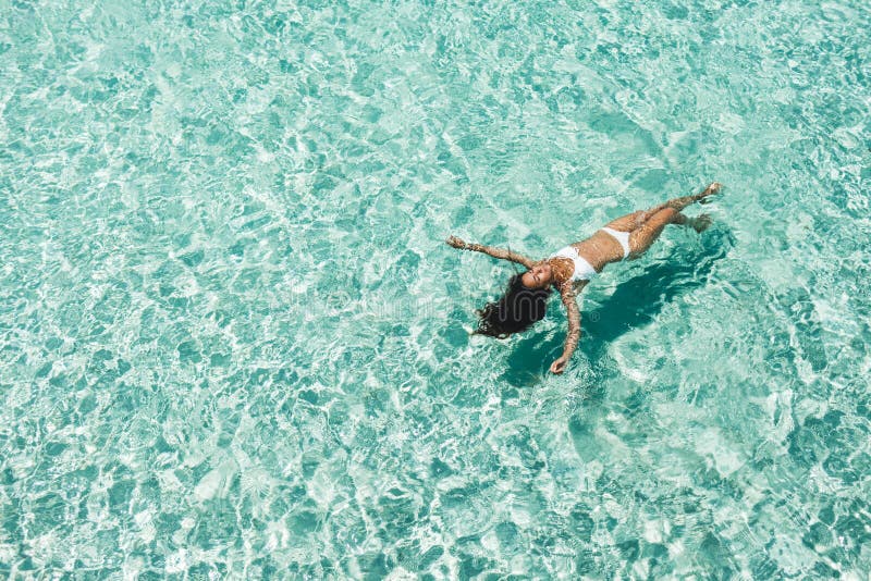
[(526, 331), (532, 323), (544, 318), (551, 288), (527, 288), (522, 274), (508, 281), (505, 294), (494, 302), (488, 302), (476, 312), (480, 320), (476, 335), (505, 338)]

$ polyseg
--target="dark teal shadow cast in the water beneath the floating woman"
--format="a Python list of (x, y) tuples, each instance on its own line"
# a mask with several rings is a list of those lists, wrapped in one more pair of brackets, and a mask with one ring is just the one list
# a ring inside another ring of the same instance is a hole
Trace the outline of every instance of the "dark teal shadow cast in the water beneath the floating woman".
[[(700, 244), (677, 248), (665, 261), (650, 264), (641, 274), (621, 282), (611, 296), (599, 300), (593, 294), (590, 298), (599, 302), (596, 308), (586, 310), (581, 301), (578, 351), (589, 359), (592, 376), (600, 380), (609, 374), (605, 351), (612, 341), (651, 322), (666, 304), (682, 294), (707, 284), (714, 264), (733, 245), (732, 233), (725, 226), (714, 226), (701, 236)], [(594, 284), (593, 281), (591, 285)], [(586, 292), (590, 289), (588, 286)], [(559, 298), (552, 302), (559, 304)], [(519, 341), (501, 379), (516, 387), (536, 385), (543, 379), (551, 362), (562, 353), (566, 330), (562, 305), (552, 307), (549, 314), (563, 320), (560, 330), (549, 336), (531, 333)], [(576, 358), (581, 355), (578, 351)]]

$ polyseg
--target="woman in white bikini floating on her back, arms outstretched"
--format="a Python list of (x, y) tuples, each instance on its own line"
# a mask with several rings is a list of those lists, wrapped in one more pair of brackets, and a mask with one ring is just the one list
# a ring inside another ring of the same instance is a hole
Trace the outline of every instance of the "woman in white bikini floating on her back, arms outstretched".
[[(602, 272), (605, 264), (634, 259), (643, 255), (667, 224), (683, 224), (701, 232), (711, 224), (708, 214), (687, 218), (680, 210), (720, 191), (716, 182), (701, 194), (675, 198), (649, 210), (638, 210), (617, 218), (587, 238), (566, 246), (543, 260), (531, 260), (511, 250), (469, 244), (456, 236), (447, 238), (447, 244), (461, 250), (484, 252), (493, 258), (511, 260), (528, 270), (512, 276), (505, 294), (495, 302), (489, 302), (477, 311), (480, 317), (480, 335), (505, 338), (513, 333), (525, 331), (544, 317), (551, 285), (560, 290), (568, 317), (568, 334), (565, 337), (563, 355), (551, 364), (551, 371), (562, 373), (580, 337), (580, 311), (575, 297), (587, 286), (590, 279)], [(702, 201), (707, 203), (707, 201)]]

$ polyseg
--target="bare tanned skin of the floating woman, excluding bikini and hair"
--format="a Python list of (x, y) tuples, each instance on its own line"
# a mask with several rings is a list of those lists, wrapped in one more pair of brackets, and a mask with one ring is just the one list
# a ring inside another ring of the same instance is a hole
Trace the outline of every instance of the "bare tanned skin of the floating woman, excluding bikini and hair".
[[(650, 248), (668, 224), (688, 225), (695, 228), (696, 232), (702, 232), (710, 226), (711, 218), (708, 214), (687, 218), (680, 213), (680, 210), (690, 203), (716, 194), (720, 188), (721, 185), (713, 182), (700, 194), (674, 198), (648, 210), (638, 210), (630, 214), (622, 215), (616, 220), (612, 220), (605, 226), (618, 232), (629, 233), (628, 259), (636, 259)], [(557, 257), (532, 260), (504, 248), (466, 243), (456, 236), (451, 236), (445, 242), (461, 250), (483, 252), (493, 258), (523, 264), (527, 269), (523, 274), (523, 283), (527, 288), (545, 288), (548, 285), (556, 287), (568, 319), (568, 333), (566, 333), (563, 345), (563, 354), (551, 364), (550, 370), (553, 373), (562, 373), (572, 358), (572, 354), (575, 353), (580, 338), (580, 309), (578, 309), (576, 297), (589, 282), (577, 281), (573, 283), (571, 281), (575, 270), (572, 259)], [(623, 260), (623, 247), (621, 244), (613, 236), (601, 230), (596, 231), (589, 238), (572, 244), (572, 246), (596, 269), (596, 272), (602, 272), (605, 265), (611, 262)]]

